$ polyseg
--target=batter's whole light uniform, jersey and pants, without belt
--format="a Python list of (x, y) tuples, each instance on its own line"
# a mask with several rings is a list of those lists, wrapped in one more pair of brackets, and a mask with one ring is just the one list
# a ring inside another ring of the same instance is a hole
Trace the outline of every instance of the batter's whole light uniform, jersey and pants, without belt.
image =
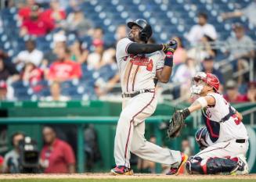
[[(153, 89), (157, 70), (164, 67), (164, 52), (147, 55), (128, 54), (128, 38), (117, 43), (117, 65), (121, 75), (121, 87), (124, 93)], [(130, 152), (142, 159), (178, 166), (181, 162), (179, 151), (161, 148), (144, 137), (145, 120), (157, 108), (154, 92), (145, 92), (132, 98), (124, 98), (123, 108), (117, 123), (114, 141), (114, 159), (117, 166), (130, 167)]]

